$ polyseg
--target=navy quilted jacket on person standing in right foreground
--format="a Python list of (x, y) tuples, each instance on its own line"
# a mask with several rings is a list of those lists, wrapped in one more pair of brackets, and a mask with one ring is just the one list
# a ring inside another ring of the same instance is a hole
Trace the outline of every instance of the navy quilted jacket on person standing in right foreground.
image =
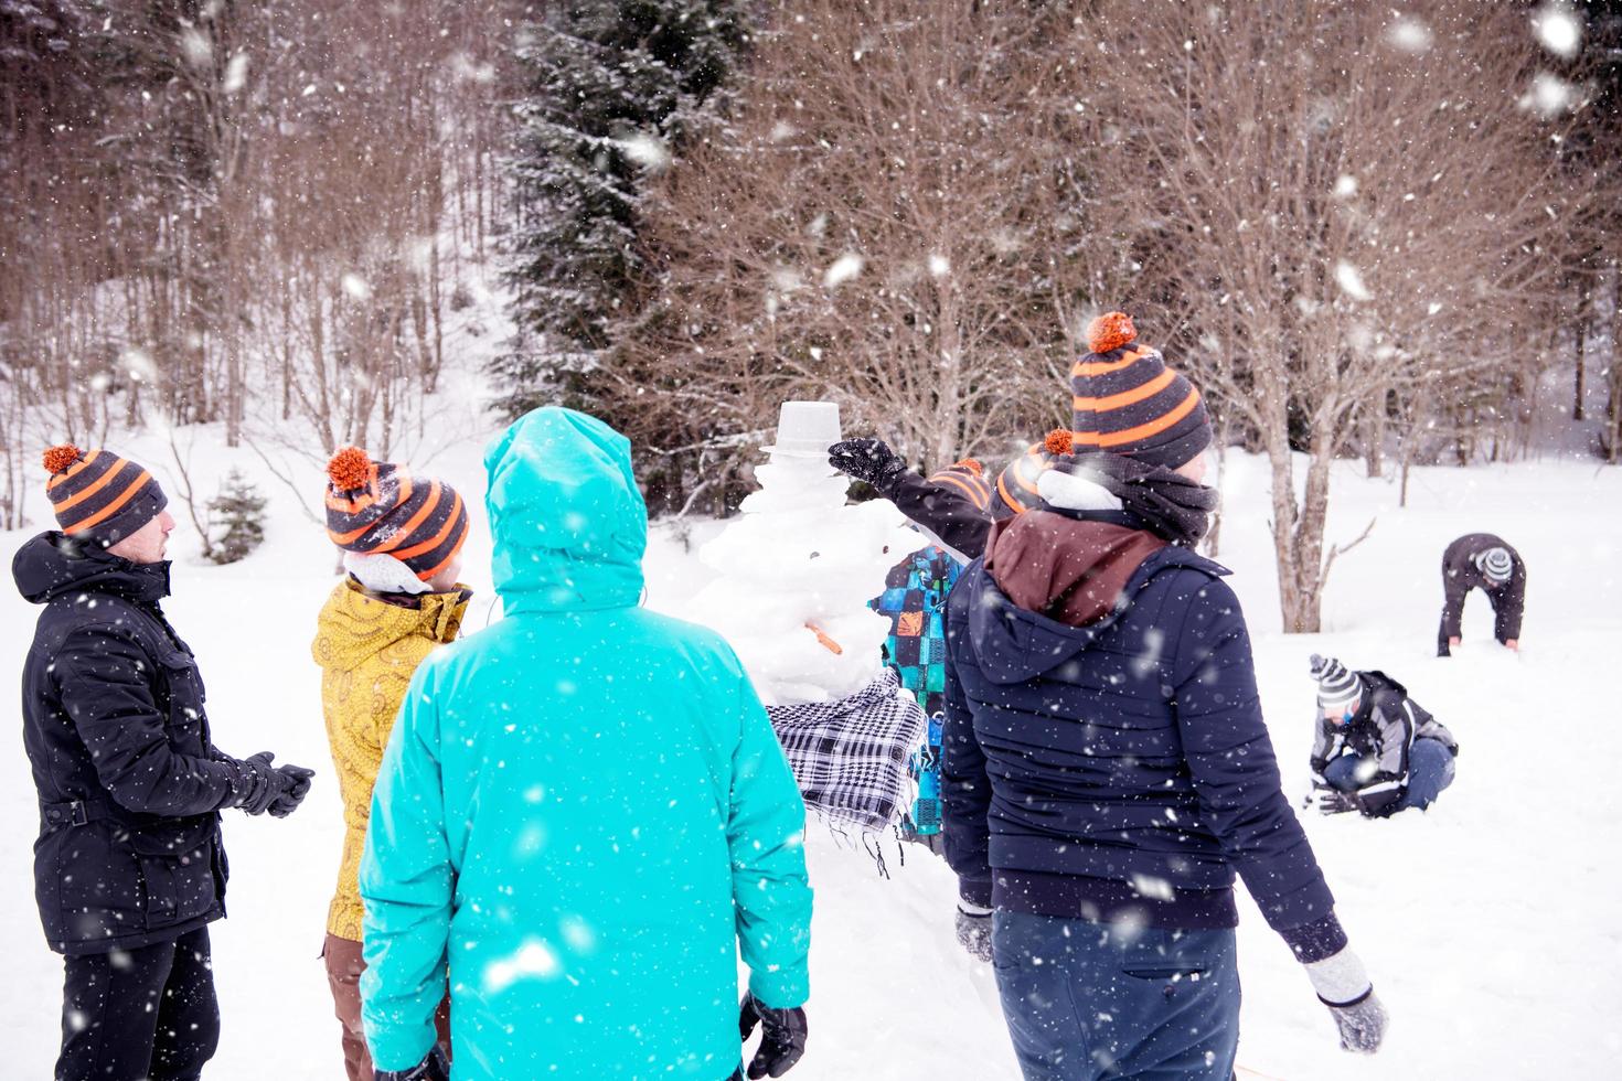
[(947, 606), (942, 747), (947, 859), (965, 899), (1231, 927), (1238, 870), (1275, 929), (1332, 917), (1280, 791), (1226, 574), (1166, 546), (1113, 613), (1069, 626), (970, 564)]

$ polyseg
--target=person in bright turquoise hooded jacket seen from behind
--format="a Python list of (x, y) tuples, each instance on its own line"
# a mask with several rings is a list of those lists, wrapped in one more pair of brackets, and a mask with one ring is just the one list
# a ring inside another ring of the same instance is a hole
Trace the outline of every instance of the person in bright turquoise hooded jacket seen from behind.
[(485, 468), (504, 617), (417, 669), (373, 796), (378, 1078), (723, 1081), (756, 1023), (748, 1076), (780, 1076), (805, 1050), (811, 888), (766, 710), (720, 635), (639, 606), (624, 436), (539, 408)]

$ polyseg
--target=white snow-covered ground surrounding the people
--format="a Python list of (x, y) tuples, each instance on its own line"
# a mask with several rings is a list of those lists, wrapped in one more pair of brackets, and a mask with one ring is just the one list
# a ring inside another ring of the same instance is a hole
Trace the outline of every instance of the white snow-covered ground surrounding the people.
[[(170, 483), (159, 441), (115, 446)], [(250, 454), (219, 451), (203, 462), (200, 486), (212, 491), (212, 473), (232, 462), (263, 476)], [(485, 622), (490, 600), (478, 444), (459, 442), (428, 472), (475, 506), (467, 577), (480, 598), (472, 630)], [(302, 476), (313, 499), (315, 468)], [(225, 814), (230, 919), (212, 929), (224, 1032), (208, 1076), (336, 1079), (337, 1024), (316, 955), (341, 820), (308, 653), (334, 561), (290, 493), (274, 481), (264, 491), (272, 501), (269, 540), (248, 561), (201, 562), (188, 525), (172, 545), (175, 596), (167, 611), (201, 660), (216, 742), (240, 755), (272, 749), (321, 771), (292, 818)], [(1577, 460), (1418, 470), (1411, 506), (1398, 509), (1392, 481), (1364, 480), (1358, 464), (1345, 464), (1335, 473), (1330, 540), (1356, 536), (1371, 515), (1379, 522), (1367, 543), (1337, 564), (1327, 630), (1312, 637), (1278, 634), (1264, 464), (1229, 455), (1225, 491), (1221, 559), (1236, 570), (1251, 617), (1291, 796), (1306, 789), (1312, 652), (1401, 679), (1461, 742), (1458, 781), (1429, 814), (1385, 822), (1306, 817), (1353, 948), (1392, 1013), (1385, 1049), (1374, 1058), (1338, 1050), (1327, 1011), (1246, 899), (1239, 1076), (1622, 1076), (1622, 784), (1614, 755), (1622, 723), (1622, 470)], [(42, 515), (42, 493), (32, 506)], [(1500, 533), (1530, 566), (1520, 656), (1491, 640), (1479, 595), (1466, 611), (1463, 650), (1452, 660), (1434, 656), (1442, 548), (1473, 530)], [(15, 551), (24, 536), (0, 541)], [(649, 603), (680, 614), (704, 570), (662, 528), (649, 577)], [(18, 686), (32, 621), (29, 605), (10, 587), (0, 590), (0, 686)], [(34, 911), (37, 817), (15, 736), (0, 755), (0, 817), (10, 823), (0, 833), (3, 1073), (44, 1078), (58, 1037), (62, 966)], [(886, 880), (860, 846), (835, 843), (816, 823), (808, 854), (817, 890), (811, 1040), (790, 1076), (1017, 1078), (991, 972), (952, 937), (954, 878), (944, 864), (908, 848), (903, 865), (887, 841)]]

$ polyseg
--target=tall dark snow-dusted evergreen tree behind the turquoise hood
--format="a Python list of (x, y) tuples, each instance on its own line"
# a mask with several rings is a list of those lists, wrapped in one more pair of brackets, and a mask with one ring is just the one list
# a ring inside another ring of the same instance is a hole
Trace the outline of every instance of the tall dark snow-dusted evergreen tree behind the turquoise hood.
[(611, 326), (646, 272), (637, 194), (736, 65), (741, 0), (548, 5), (521, 34), (526, 97), (511, 162), (519, 204), (514, 314), (491, 363), (501, 408), (592, 408)]

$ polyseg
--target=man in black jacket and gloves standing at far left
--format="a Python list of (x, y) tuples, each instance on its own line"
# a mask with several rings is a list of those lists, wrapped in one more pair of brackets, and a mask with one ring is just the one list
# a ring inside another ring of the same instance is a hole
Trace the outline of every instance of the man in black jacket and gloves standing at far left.
[(23, 664), (39, 793), (34, 896), (65, 955), (58, 1081), (188, 1081), (219, 1040), (208, 924), (225, 914), (219, 810), (282, 817), (313, 773), (209, 739), (203, 681), (164, 617), (175, 520), (109, 451), (45, 452), (60, 532), (18, 549), (44, 605)]

